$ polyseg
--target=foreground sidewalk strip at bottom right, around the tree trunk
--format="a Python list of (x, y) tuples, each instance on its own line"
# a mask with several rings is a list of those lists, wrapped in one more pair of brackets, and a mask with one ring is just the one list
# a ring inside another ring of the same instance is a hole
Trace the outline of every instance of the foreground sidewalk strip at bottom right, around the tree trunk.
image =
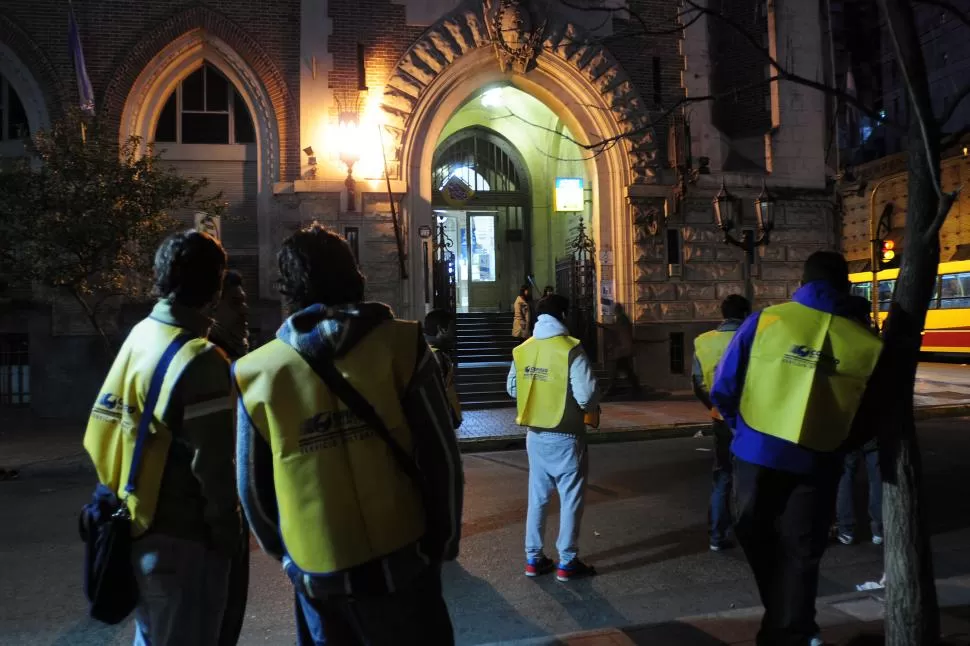
[[(936, 588), (940, 597), (941, 643), (970, 644), (970, 577), (937, 580)], [(884, 601), (885, 590), (819, 598), (816, 621), (825, 643), (846, 644), (862, 634), (876, 639), (864, 644), (881, 644)], [(506, 646), (754, 646), (762, 612), (763, 608), (757, 606), (660, 624), (501, 643)]]

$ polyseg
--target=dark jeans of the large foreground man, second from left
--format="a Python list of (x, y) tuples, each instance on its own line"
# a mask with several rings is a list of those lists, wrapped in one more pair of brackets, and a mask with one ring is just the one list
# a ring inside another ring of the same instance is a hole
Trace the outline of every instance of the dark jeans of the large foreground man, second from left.
[(384, 595), (311, 599), (296, 590), (299, 646), (454, 646), (454, 628), (432, 565), (407, 587)]

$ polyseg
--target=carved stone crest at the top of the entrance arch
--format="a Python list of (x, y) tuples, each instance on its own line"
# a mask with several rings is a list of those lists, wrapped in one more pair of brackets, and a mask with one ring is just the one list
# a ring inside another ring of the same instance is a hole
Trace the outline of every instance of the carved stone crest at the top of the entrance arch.
[(485, 25), (503, 72), (525, 74), (535, 66), (546, 20), (536, 20), (528, 0), (484, 0)]

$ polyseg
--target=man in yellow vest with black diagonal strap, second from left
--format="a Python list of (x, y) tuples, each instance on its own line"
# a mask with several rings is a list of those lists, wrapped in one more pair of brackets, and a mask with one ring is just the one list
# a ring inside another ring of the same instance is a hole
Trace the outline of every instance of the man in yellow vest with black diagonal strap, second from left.
[(239, 494), (296, 591), (301, 646), (454, 644), (462, 466), (421, 325), (363, 302), (347, 241), (319, 225), (278, 255), (293, 314), (239, 359)]

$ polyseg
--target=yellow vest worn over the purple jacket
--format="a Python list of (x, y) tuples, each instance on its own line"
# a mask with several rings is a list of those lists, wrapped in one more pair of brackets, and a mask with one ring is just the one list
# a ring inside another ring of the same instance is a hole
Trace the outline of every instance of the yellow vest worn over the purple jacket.
[(882, 341), (850, 319), (791, 302), (758, 319), (741, 393), (753, 429), (815, 451), (849, 436)]

